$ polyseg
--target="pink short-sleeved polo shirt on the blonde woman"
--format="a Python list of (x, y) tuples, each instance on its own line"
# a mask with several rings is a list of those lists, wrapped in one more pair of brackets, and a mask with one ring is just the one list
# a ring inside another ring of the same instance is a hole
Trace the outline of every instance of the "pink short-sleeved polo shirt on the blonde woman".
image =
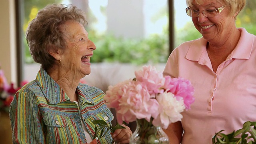
[(182, 144), (212, 144), (215, 132), (228, 134), (256, 121), (256, 36), (238, 28), (241, 38), (215, 73), (204, 38), (184, 42), (168, 58), (164, 75), (184, 77), (195, 102), (182, 113)]

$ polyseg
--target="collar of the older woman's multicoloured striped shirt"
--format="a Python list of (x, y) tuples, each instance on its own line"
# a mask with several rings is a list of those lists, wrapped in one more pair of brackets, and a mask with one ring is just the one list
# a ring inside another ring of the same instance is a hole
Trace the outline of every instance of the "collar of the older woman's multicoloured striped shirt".
[[(38, 81), (38, 85), (40, 86), (46, 100), (50, 104), (58, 104), (70, 100), (63, 89), (48, 75), (43, 68), (40, 68), (36, 76), (36, 80)], [(94, 104), (92, 98), (90, 98), (89, 94), (83, 90), (81, 84), (78, 85), (76, 90), (80, 100)]]

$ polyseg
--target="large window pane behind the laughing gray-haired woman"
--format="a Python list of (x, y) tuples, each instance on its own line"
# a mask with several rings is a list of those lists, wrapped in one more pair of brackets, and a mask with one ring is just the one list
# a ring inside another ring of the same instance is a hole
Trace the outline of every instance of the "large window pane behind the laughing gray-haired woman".
[(50, 3), (72, 3), (87, 13), (86, 30), (97, 46), (91, 62), (164, 63), (168, 58), (167, 0), (24, 0), (24, 5), (20, 3), (22, 80), (33, 80), (40, 67), (30, 56), (26, 27)]

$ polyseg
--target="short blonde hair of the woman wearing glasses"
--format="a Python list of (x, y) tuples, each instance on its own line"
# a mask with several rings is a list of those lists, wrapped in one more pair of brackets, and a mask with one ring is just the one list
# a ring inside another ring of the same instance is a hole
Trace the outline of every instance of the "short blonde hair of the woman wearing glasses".
[[(192, 1), (193, 0), (186, 0), (187, 6), (191, 6)], [(246, 0), (220, 0), (220, 1), (224, 2), (226, 5), (226, 8), (229, 9), (230, 16), (236, 14), (236, 12), (238, 12), (238, 14), (239, 14), (241, 12), (241, 10), (244, 8), (244, 6), (246, 5)], [(195, 0), (195, 2), (196, 2), (196, 4), (201, 5), (204, 3), (204, 0)]]

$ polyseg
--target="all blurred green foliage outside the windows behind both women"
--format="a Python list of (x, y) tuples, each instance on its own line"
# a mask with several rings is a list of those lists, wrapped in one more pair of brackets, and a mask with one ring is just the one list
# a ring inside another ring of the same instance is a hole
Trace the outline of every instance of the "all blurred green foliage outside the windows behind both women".
[[(53, 0), (24, 0), (25, 4), (25, 20), (23, 30), (24, 33), (28, 23), (35, 18), (38, 10), (53, 2)], [(56, 3), (62, 0), (55, 0)], [(247, 0), (246, 7), (238, 15), (236, 20), (237, 27), (244, 27), (252, 34), (256, 35), (256, 0)], [(102, 8), (102, 13), (106, 12), (106, 8)], [(161, 13), (156, 14), (154, 18), (166, 16), (164, 12), (168, 11), (162, 8)], [(95, 16), (88, 10), (87, 17), (91, 24), (96, 21)], [(94, 51), (94, 56), (91, 62), (121, 62), (121, 63), (165, 63), (169, 52), (169, 31), (168, 24), (163, 28), (162, 34), (150, 35), (142, 39), (127, 39), (115, 37), (112, 34), (98, 34), (97, 30), (90, 28), (90, 24), (86, 28), (89, 33), (89, 38), (96, 44), (97, 49)], [(177, 30), (175, 28), (174, 48), (182, 42), (194, 40), (201, 37), (201, 34), (194, 28), (192, 22), (188, 22), (184, 28)], [(33, 63), (26, 43), (25, 36), (23, 37), (25, 44), (25, 62)]]

